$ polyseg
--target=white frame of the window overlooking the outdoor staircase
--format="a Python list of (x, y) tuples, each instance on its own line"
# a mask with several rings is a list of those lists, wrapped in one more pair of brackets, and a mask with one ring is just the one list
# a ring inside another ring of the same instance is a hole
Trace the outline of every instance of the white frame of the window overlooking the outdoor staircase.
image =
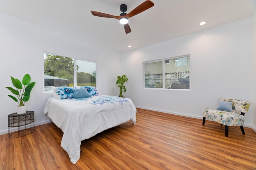
[[(182, 55), (182, 56), (177, 56), (177, 57), (170, 57), (170, 58), (165, 58), (165, 59), (158, 59), (158, 60), (152, 60), (152, 61), (144, 61), (142, 62), (143, 64), (143, 87), (142, 89), (146, 89), (146, 90), (186, 90), (186, 91), (190, 91), (191, 90), (191, 82), (190, 82), (190, 75), (189, 75), (189, 89), (182, 89), (182, 88), (178, 88), (178, 89), (174, 89), (174, 88), (166, 88), (165, 84), (166, 84), (166, 74), (165, 73), (165, 66), (166, 66), (166, 63), (165, 61), (166, 60), (169, 60), (169, 63), (170, 63), (170, 60), (171, 59), (180, 59), (180, 58), (184, 58), (186, 57), (186, 66), (178, 66), (178, 67), (188, 67), (189, 66), (189, 73), (190, 73), (190, 55)], [(189, 64), (188, 64), (188, 58), (189, 58)], [(148, 64), (148, 63), (156, 63), (156, 62), (159, 62), (159, 61), (162, 61), (162, 88), (156, 88), (156, 87), (145, 87), (145, 73), (146, 73), (146, 70), (145, 70), (145, 64)], [(169, 63), (167, 65), (169, 65)], [(175, 61), (175, 65), (174, 67), (176, 67), (176, 61)]]

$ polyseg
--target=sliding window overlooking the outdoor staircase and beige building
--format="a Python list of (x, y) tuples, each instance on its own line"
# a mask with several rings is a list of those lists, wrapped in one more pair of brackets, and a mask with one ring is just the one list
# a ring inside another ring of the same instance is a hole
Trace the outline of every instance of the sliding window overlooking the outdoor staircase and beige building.
[(144, 88), (190, 89), (189, 55), (148, 61), (143, 66)]

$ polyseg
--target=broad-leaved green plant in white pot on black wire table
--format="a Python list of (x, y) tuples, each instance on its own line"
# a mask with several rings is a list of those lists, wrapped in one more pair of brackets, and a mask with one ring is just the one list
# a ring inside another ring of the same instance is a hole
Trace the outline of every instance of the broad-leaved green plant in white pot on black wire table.
[[(24, 77), (22, 78), (22, 82), (20, 82), (20, 80), (18, 80), (17, 78), (13, 78), (12, 76), (11, 76), (11, 80), (12, 80), (13, 86), (16, 89), (12, 87), (6, 87), (6, 88), (10, 90), (14, 95), (16, 95), (17, 98), (12, 95), (8, 95), (8, 96), (12, 98), (15, 102), (18, 102), (18, 108), (17, 108), (18, 114), (26, 113), (27, 110), (24, 104), (29, 100), (30, 92), (34, 87), (34, 85), (36, 84), (36, 82), (30, 83), (31, 77), (29, 74), (24, 75)], [(24, 86), (22, 86), (22, 84)]]

